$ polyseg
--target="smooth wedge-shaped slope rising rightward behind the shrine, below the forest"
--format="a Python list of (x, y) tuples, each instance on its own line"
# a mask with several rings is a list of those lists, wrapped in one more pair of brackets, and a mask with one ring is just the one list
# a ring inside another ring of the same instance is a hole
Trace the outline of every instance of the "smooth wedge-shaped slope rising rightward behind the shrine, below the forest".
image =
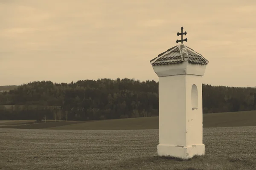
[[(256, 111), (203, 114), (203, 127), (256, 126)], [(52, 127), (55, 130), (158, 129), (158, 117), (112, 119)]]

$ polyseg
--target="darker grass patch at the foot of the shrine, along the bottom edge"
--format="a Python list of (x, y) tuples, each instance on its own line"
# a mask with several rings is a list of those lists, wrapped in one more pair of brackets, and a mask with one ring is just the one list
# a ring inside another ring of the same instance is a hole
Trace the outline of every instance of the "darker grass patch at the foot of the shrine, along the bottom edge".
[[(227, 156), (194, 156), (191, 159), (175, 157), (134, 157), (125, 161), (109, 164), (110, 169), (131, 170), (242, 170), (245, 164), (242, 159), (231, 159)], [(105, 167), (108, 169), (108, 167)]]

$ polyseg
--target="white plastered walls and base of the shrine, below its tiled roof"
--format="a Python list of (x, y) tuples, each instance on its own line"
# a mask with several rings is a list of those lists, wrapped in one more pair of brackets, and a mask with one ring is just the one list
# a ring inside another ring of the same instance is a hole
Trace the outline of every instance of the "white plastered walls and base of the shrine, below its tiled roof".
[(153, 68), (159, 75), (158, 156), (204, 155), (201, 81), (206, 66), (183, 62)]

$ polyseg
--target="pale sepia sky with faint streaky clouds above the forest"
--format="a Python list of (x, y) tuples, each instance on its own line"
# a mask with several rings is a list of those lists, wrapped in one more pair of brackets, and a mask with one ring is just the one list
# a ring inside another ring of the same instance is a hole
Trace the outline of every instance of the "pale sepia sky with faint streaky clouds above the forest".
[(184, 44), (203, 83), (256, 86), (256, 0), (0, 0), (0, 85), (158, 81), (150, 60)]

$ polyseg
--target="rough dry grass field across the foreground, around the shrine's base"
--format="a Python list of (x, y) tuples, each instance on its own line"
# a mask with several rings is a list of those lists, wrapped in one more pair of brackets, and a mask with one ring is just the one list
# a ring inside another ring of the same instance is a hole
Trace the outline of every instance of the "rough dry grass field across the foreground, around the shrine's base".
[(256, 127), (204, 128), (206, 155), (157, 154), (158, 130), (0, 129), (4, 170), (255, 170)]

